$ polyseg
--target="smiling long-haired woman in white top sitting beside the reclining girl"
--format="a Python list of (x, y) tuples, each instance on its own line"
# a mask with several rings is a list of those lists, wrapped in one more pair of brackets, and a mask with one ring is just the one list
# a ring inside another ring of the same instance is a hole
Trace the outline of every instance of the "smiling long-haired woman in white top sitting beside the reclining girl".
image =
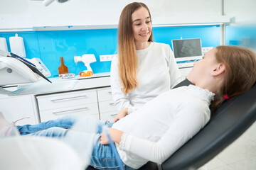
[(111, 67), (112, 96), (119, 111), (114, 122), (180, 81), (171, 47), (153, 42), (149, 8), (138, 2), (125, 6), (119, 18), (118, 55)]

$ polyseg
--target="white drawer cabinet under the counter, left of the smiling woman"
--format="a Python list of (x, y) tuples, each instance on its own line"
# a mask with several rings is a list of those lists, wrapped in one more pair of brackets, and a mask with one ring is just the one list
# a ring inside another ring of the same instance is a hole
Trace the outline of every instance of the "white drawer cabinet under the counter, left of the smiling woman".
[(110, 87), (44, 94), (36, 98), (41, 122), (68, 114), (112, 121), (117, 115)]

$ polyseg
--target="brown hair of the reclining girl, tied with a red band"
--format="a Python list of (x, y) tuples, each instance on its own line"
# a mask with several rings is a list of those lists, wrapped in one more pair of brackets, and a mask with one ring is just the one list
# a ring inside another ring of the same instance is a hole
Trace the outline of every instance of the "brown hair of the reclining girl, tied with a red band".
[(222, 94), (215, 96), (210, 109), (214, 111), (228, 97), (245, 93), (256, 82), (256, 54), (245, 47), (225, 46), (216, 47), (216, 60), (225, 65)]

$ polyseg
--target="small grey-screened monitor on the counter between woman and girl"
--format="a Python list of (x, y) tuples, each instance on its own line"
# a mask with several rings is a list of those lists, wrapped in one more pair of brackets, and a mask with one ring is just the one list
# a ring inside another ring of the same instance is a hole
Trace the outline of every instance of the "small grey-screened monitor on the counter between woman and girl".
[(201, 60), (202, 45), (200, 38), (171, 40), (176, 62)]

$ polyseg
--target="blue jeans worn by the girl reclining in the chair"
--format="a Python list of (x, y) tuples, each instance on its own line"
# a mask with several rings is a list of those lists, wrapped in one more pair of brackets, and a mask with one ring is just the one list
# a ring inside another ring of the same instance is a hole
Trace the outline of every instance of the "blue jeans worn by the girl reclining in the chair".
[[(48, 122), (43, 122), (38, 125), (23, 125), (17, 126), (17, 128), (21, 135), (36, 135), (61, 138), (65, 137), (68, 129), (73, 126), (76, 120), (77, 118), (75, 116), (68, 115), (56, 120), (49, 120)], [(119, 169), (116, 161), (117, 156), (114, 155), (114, 152), (112, 152), (110, 145), (100, 145), (100, 134), (102, 133), (103, 125), (107, 125), (107, 127), (111, 128), (113, 123), (110, 123), (109, 121), (103, 122), (99, 120), (99, 123), (97, 125), (97, 140), (95, 141), (92, 150), (90, 166), (95, 167), (95, 169), (104, 170)], [(123, 162), (122, 164), (126, 170), (132, 170), (131, 167), (125, 165)]]

